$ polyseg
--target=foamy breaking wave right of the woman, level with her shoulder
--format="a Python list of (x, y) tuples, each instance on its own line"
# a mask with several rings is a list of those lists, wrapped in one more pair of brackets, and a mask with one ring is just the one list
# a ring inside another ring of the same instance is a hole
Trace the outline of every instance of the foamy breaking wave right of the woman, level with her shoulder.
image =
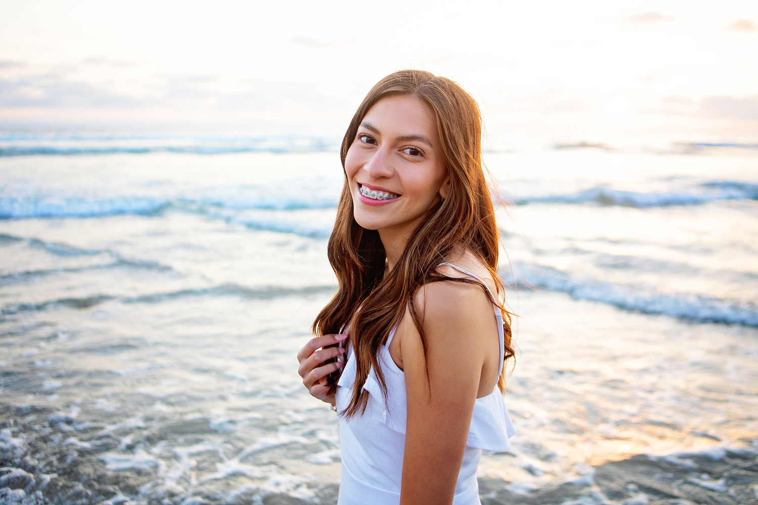
[(758, 306), (735, 300), (709, 298), (695, 293), (664, 293), (637, 285), (577, 279), (570, 273), (532, 263), (514, 263), (503, 280), (520, 287), (562, 291), (578, 300), (599, 301), (625, 310), (664, 314), (703, 323), (758, 326)]

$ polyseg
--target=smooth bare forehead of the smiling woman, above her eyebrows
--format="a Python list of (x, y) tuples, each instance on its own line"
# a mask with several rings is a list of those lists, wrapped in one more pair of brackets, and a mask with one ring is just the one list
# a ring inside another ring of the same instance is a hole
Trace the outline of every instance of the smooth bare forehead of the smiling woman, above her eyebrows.
[(412, 95), (382, 98), (368, 109), (363, 120), (379, 129), (383, 136), (422, 134), (433, 142), (437, 139), (434, 113), (427, 104)]

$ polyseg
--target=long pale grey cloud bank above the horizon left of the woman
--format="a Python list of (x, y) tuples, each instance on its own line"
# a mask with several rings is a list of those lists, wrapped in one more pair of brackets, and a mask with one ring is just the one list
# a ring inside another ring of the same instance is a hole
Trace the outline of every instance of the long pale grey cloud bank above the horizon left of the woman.
[[(65, 67), (0, 62), (0, 109), (247, 111), (303, 114), (351, 110), (355, 97), (316, 83), (242, 80), (212, 74), (120, 73), (110, 61)], [(94, 70), (93, 70), (94, 69)], [(359, 98), (357, 99), (359, 101)]]

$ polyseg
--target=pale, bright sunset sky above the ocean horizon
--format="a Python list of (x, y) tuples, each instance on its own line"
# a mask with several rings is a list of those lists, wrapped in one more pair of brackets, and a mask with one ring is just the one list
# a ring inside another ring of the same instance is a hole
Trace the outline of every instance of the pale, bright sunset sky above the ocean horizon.
[(758, 142), (758, 2), (0, 0), (0, 126), (339, 135), (400, 68), (490, 132)]

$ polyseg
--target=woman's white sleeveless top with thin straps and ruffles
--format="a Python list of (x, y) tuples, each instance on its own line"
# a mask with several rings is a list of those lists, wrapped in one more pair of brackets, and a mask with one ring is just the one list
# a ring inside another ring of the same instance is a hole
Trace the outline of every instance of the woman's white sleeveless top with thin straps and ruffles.
[[(487, 284), (473, 273), (450, 263), (461, 273), (474, 277), (494, 296)], [(495, 306), (497, 332), (500, 336), (500, 366), (503, 365), (503, 314)], [(342, 476), (340, 478), (339, 505), (397, 505), (400, 503), (402, 481), (402, 457), (406, 446), (406, 376), (390, 356), (390, 342), (395, 330), (390, 332), (387, 343), (378, 354), (384, 380), (387, 384), (387, 402), (381, 392), (379, 381), (371, 369), (363, 389), (368, 391), (368, 405), (362, 416), (349, 420), (340, 417), (340, 447), (342, 450)], [(501, 369), (502, 373), (502, 369)], [(352, 350), (346, 353), (346, 363), (340, 381), (337, 382), (337, 411), (343, 412), (352, 398), (352, 386), (356, 381), (356, 360)], [(477, 398), (468, 441), (458, 474), (453, 505), (479, 505), (479, 486), (476, 470), (484, 450), (507, 450), (508, 439), (514, 434), (503, 394), (495, 386), (487, 396)]]

